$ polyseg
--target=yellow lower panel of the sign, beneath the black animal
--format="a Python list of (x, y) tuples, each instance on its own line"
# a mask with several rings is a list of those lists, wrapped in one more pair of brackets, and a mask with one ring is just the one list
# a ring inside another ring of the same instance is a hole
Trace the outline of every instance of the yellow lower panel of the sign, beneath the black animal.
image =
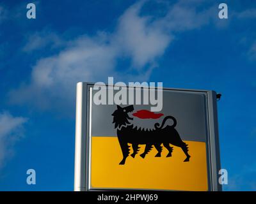
[[(189, 146), (191, 158), (179, 147), (173, 147), (172, 157), (166, 157), (163, 148), (161, 157), (155, 157), (152, 148), (143, 159), (140, 154), (145, 145), (140, 145), (138, 154), (127, 157), (120, 165), (122, 151), (116, 136), (92, 136), (91, 187), (95, 189), (163, 189), (182, 191), (207, 191), (207, 158), (205, 142), (184, 141)], [(131, 144), (129, 144), (131, 146)], [(200, 167), (200, 168), (198, 168)]]

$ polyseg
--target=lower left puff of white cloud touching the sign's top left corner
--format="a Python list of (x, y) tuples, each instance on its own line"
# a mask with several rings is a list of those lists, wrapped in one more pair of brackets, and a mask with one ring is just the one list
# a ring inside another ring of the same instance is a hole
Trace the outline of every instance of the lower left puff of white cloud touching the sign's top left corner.
[(12, 101), (61, 110), (72, 103), (76, 82), (106, 80), (106, 76), (114, 75), (115, 57), (115, 48), (107, 41), (81, 36), (60, 54), (36, 62), (31, 84), (12, 91)]

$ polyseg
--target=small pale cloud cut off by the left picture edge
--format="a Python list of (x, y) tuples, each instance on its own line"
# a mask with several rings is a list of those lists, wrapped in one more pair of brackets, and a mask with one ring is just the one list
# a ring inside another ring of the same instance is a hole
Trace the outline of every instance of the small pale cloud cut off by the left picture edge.
[(4, 159), (12, 156), (12, 147), (23, 136), (24, 117), (13, 117), (8, 112), (0, 113), (0, 168)]

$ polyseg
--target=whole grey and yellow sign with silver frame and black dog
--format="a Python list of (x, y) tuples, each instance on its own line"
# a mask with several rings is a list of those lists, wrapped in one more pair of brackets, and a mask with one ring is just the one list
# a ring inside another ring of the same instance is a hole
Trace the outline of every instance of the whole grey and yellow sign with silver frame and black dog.
[(163, 89), (154, 112), (150, 91), (100, 90), (77, 84), (76, 191), (220, 190), (215, 92)]

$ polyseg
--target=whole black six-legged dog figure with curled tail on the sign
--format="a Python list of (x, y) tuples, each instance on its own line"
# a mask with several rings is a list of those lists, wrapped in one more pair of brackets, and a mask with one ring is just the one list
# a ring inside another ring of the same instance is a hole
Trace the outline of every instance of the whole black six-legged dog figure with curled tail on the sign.
[[(177, 147), (180, 147), (183, 152), (186, 154), (186, 159), (184, 161), (189, 161), (188, 154), (188, 145), (184, 143), (180, 139), (180, 135), (175, 129), (177, 125), (177, 120), (172, 116), (166, 116), (160, 126), (159, 123), (154, 125), (155, 129), (152, 130), (144, 130), (138, 129), (138, 127), (134, 127), (129, 120), (133, 120), (132, 117), (129, 117), (128, 113), (134, 110), (133, 105), (126, 106), (122, 108), (117, 105), (117, 109), (112, 114), (113, 115), (113, 123), (115, 124), (115, 129), (118, 136), (118, 142), (120, 143), (120, 147), (123, 153), (123, 159), (119, 164), (125, 164), (125, 159), (129, 156), (129, 145), (132, 144), (133, 153), (131, 156), (134, 158), (138, 153), (138, 145), (146, 145), (145, 150), (140, 156), (144, 158), (148, 152), (152, 149), (153, 145), (156, 147), (158, 151), (156, 157), (161, 157), (163, 143), (164, 147), (168, 149), (168, 154), (166, 157), (172, 156), (173, 147), (170, 147), (170, 143)], [(172, 126), (166, 126), (163, 128), (166, 120), (172, 119)], [(159, 127), (160, 126), (160, 127)]]

